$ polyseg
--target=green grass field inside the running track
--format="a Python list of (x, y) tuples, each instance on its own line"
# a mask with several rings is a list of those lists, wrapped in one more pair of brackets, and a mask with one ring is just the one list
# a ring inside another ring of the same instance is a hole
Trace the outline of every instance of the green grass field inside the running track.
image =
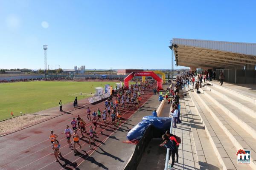
[[(95, 91), (95, 87), (104, 88), (106, 84), (116, 82), (15, 82), (0, 84), (0, 120), (23, 113), (35, 113), (58, 106), (61, 99), (63, 104), (73, 102), (75, 97), (84, 99), (85, 93)], [(80, 95), (80, 92), (83, 95)]]

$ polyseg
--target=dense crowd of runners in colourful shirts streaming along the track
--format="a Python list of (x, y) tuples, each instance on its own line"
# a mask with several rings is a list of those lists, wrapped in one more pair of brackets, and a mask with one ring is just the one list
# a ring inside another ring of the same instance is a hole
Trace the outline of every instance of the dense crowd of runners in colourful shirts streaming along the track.
[[(67, 143), (69, 144), (70, 149), (73, 147), (73, 153), (77, 152), (77, 147), (79, 146), (80, 149), (82, 147), (81, 142), (79, 139), (88, 137), (88, 147), (90, 148), (91, 145), (96, 146), (95, 142), (95, 134), (97, 127), (108, 127), (113, 125), (116, 128), (119, 128), (119, 125), (122, 123), (122, 111), (125, 111), (128, 108), (138, 108), (140, 102), (143, 98), (145, 91), (149, 90), (150, 88), (154, 88), (156, 82), (154, 80), (146, 80), (145, 82), (136, 82), (134, 85), (128, 90), (120, 89), (116, 96), (110, 96), (104, 102), (104, 109), (97, 108), (96, 110), (91, 110), (89, 107), (86, 109), (85, 113), (81, 113), (81, 116), (78, 115), (74, 117), (70, 125), (67, 125), (64, 129), (64, 135), (66, 136)], [(60, 110), (62, 110), (62, 102), (60, 104)], [(74, 105), (76, 101), (74, 101)], [(77, 106), (77, 104), (76, 104)], [(111, 121), (108, 120), (111, 119)], [(87, 123), (84, 121), (87, 119)], [(91, 124), (91, 125), (90, 125)], [(89, 128), (87, 128), (87, 126)], [(71, 128), (72, 127), (72, 128)], [(98, 131), (98, 133), (102, 133)], [(54, 150), (54, 156), (56, 161), (58, 161), (58, 157), (61, 156), (60, 147), (61, 144), (58, 141), (58, 135), (54, 133), (52, 130), (49, 134), (49, 139), (52, 143), (52, 150)], [(72, 141), (73, 140), (73, 146)]]

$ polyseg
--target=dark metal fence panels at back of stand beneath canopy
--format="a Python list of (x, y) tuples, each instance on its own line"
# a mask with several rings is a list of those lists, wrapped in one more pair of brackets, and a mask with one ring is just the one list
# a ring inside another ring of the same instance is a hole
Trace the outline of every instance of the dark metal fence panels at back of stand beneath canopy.
[(256, 84), (256, 69), (217, 69), (216, 79), (224, 72), (224, 82), (234, 84)]

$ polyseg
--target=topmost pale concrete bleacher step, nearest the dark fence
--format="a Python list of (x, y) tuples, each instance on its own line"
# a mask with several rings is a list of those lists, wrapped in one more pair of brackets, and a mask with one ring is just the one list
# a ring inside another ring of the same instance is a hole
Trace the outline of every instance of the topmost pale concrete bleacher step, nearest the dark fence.
[(230, 88), (227, 88), (225, 86), (220, 86), (216, 82), (212, 82), (212, 86), (215, 87), (215, 88), (221, 89), (223, 91), (226, 91), (229, 94), (236, 95), (237, 97), (240, 97), (241, 99), (244, 99), (245, 101), (256, 105), (256, 98), (253, 97), (253, 96), (247, 95), (243, 91), (230, 89)]

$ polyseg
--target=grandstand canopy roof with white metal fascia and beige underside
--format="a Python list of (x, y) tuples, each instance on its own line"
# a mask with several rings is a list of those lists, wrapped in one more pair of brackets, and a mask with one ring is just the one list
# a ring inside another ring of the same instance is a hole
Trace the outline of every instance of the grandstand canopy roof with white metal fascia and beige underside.
[(170, 48), (174, 49), (176, 64), (186, 67), (256, 65), (256, 43), (173, 38)]

